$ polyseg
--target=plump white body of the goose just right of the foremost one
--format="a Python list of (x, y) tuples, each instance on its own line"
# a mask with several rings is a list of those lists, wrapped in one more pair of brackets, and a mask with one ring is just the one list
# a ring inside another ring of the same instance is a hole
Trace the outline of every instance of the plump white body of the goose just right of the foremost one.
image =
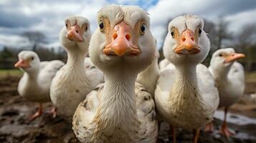
[(184, 74), (170, 63), (161, 70), (158, 78), (155, 97), (158, 114), (160, 117), (168, 114), (165, 118), (174, 127), (202, 127), (212, 121), (218, 107), (217, 88), (214, 87), (214, 80), (207, 66), (197, 65), (193, 76), (197, 81), (189, 82), (191, 77), (184, 77)]

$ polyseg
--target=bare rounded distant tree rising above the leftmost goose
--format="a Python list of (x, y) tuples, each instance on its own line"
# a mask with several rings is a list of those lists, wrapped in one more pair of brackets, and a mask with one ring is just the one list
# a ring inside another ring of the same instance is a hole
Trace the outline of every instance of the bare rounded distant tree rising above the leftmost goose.
[(22, 36), (25, 36), (29, 40), (33, 51), (37, 50), (37, 46), (40, 43), (47, 43), (44, 34), (40, 31), (25, 31)]

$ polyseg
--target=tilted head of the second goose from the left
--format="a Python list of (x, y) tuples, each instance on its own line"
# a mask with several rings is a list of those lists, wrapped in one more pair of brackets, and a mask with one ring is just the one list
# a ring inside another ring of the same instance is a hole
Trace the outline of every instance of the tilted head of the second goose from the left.
[(82, 16), (67, 16), (59, 38), (68, 51), (87, 51), (90, 36), (90, 22), (87, 19)]

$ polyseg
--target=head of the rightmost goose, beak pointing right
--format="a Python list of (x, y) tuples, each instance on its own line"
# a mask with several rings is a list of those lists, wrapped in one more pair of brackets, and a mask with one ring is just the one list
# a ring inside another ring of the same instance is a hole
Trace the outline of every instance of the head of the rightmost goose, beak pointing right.
[(212, 54), (210, 61), (211, 69), (214, 71), (227, 73), (237, 59), (245, 57), (245, 54), (236, 53), (233, 48), (219, 49)]

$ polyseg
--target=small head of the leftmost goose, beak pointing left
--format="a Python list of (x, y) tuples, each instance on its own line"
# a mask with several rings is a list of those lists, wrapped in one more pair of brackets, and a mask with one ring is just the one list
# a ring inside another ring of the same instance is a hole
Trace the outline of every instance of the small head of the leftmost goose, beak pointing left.
[(18, 54), (19, 61), (14, 64), (16, 68), (23, 69), (28, 73), (39, 71), (40, 59), (34, 51), (21, 51)]

